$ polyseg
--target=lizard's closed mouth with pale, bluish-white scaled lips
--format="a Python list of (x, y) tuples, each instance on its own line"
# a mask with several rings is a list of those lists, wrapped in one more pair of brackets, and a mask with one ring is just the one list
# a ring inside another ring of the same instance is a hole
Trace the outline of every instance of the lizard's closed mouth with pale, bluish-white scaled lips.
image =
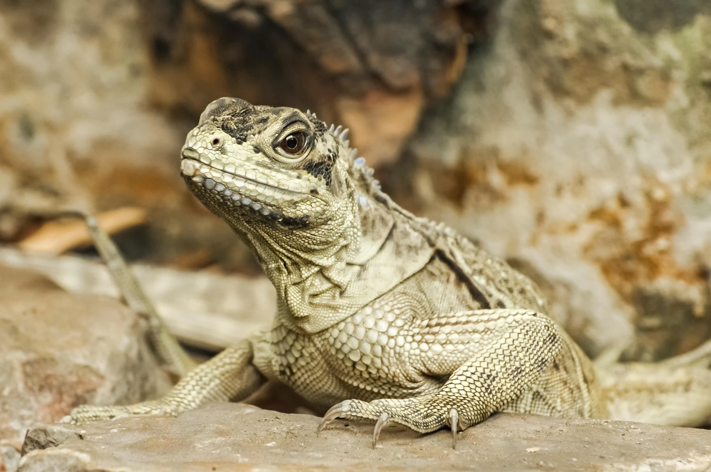
[[(188, 151), (188, 149), (186, 149)], [(198, 161), (183, 151), (181, 172), (232, 208), (252, 210), (264, 218), (269, 218), (286, 226), (305, 226), (309, 215), (284, 215), (280, 208), (306, 197), (303, 192), (288, 191), (257, 181), (247, 176), (227, 172)]]

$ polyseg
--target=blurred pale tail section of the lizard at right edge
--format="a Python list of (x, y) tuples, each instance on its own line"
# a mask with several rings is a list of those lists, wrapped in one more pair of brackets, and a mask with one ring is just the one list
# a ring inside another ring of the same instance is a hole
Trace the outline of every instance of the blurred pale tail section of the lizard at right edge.
[(711, 341), (661, 363), (599, 364), (611, 419), (698, 427), (711, 419)]

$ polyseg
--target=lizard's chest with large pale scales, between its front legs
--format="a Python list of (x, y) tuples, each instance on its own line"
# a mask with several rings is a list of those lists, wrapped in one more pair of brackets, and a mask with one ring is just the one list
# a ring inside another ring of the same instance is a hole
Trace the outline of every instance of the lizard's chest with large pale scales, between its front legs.
[(365, 309), (321, 333), (272, 331), (272, 369), (278, 380), (314, 404), (345, 399), (418, 397), (437, 392), (447, 376), (425, 376), (405, 353), (402, 318)]

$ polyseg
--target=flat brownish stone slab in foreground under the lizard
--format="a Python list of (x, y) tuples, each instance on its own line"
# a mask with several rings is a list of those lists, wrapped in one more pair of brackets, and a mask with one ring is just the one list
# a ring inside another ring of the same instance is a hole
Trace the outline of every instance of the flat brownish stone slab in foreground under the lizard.
[(372, 424), (245, 404), (215, 403), (172, 417), (133, 417), (28, 431), (20, 472), (82, 471), (704, 471), (711, 431), (653, 424), (497, 414), (459, 434)]

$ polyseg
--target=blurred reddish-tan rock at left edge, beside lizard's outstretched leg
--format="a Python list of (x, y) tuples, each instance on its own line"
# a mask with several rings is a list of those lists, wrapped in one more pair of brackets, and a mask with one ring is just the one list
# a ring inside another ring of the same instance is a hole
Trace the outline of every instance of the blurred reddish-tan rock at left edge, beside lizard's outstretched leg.
[(69, 294), (41, 275), (0, 267), (0, 464), (11, 470), (9, 448), (18, 451), (36, 422), (169, 390), (145, 339), (139, 316), (116, 299)]

